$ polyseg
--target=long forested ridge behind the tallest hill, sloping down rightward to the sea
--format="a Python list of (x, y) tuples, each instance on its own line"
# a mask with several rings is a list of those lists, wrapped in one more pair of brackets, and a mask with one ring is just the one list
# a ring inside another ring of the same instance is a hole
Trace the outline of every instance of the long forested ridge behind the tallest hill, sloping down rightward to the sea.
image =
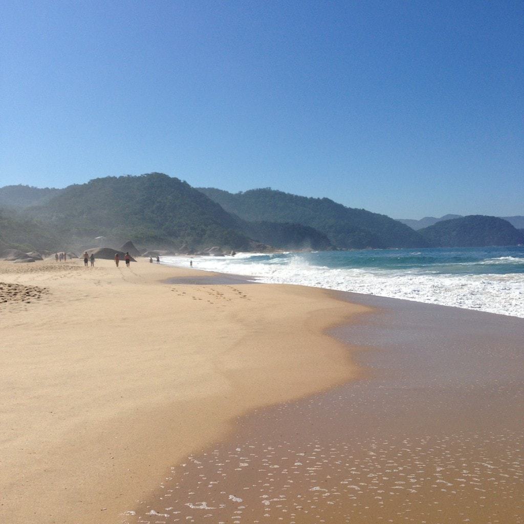
[(269, 188), (235, 194), (214, 188), (199, 191), (244, 220), (307, 225), (325, 234), (336, 247), (428, 246), (405, 224), (364, 209), (346, 208), (327, 198), (307, 198)]

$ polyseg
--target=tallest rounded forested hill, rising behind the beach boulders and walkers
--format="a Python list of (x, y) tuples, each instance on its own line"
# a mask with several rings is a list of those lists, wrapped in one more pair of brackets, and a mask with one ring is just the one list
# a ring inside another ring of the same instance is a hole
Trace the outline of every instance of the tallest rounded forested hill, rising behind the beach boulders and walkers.
[(145, 246), (248, 249), (237, 217), (187, 182), (162, 173), (97, 178), (28, 209), (71, 242), (106, 236)]

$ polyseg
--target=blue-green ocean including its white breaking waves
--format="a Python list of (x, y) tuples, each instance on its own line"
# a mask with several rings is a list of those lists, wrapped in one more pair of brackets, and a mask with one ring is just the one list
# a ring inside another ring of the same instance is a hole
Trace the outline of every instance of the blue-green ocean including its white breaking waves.
[[(188, 267), (189, 258), (162, 263)], [(524, 246), (238, 253), (193, 257), (193, 267), (524, 318)]]

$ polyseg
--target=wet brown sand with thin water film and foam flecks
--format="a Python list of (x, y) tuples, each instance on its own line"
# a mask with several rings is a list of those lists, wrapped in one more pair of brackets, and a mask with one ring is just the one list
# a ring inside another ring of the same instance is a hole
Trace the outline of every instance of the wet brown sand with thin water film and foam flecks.
[(336, 330), (366, 378), (238, 419), (123, 522), (523, 522), (524, 321), (339, 297), (381, 308)]

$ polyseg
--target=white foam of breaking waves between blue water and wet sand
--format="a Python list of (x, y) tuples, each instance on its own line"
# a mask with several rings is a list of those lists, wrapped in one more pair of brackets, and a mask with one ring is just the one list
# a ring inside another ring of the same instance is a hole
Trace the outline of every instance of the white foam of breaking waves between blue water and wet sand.
[[(260, 257), (264, 260), (260, 261)], [(257, 260), (258, 258), (258, 260)], [(187, 267), (185, 257), (165, 257), (164, 263)], [(488, 261), (484, 261), (487, 263)], [(521, 264), (524, 258), (498, 257), (490, 264)], [(310, 265), (300, 256), (238, 254), (236, 257), (195, 257), (193, 267), (253, 277), (260, 282), (353, 291), (475, 309), (524, 318), (524, 274), (439, 274), (412, 270), (329, 268)]]

